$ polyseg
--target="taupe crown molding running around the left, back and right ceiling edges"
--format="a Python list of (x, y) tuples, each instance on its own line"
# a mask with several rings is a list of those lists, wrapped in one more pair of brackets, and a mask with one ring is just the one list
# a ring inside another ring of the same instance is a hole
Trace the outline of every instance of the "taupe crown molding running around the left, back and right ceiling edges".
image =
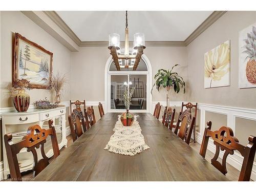
[[(60, 16), (55, 11), (43, 11), (63, 32), (65, 32), (79, 47), (100, 47), (108, 46), (108, 41), (81, 41), (77, 35), (69, 28), (69, 26), (60, 18)], [(204, 22), (191, 33), (184, 41), (146, 41), (146, 46), (187, 46), (195, 40), (200, 34), (202, 34), (208, 27), (214, 24), (223, 14), (227, 11), (214, 11), (208, 16)], [(121, 45), (124, 44), (121, 41)], [(132, 41), (130, 41), (132, 44)]]

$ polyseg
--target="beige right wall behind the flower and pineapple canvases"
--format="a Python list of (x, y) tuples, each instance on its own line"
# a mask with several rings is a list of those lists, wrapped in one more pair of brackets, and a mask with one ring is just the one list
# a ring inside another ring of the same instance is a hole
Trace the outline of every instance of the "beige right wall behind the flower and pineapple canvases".
[[(256, 11), (228, 11), (187, 46), (190, 101), (256, 109), (256, 89), (238, 88), (238, 33), (255, 20)], [(204, 89), (204, 53), (228, 39), (231, 40), (231, 86)]]

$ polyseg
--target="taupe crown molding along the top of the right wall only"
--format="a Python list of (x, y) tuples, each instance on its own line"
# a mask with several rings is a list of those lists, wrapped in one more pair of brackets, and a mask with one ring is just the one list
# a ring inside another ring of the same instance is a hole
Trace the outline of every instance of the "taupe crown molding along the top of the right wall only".
[(208, 27), (210, 27), (212, 24), (214, 24), (223, 14), (225, 14), (227, 11), (214, 11), (208, 16), (204, 22), (198, 26), (198, 28), (193, 31), (185, 40), (184, 44), (185, 46), (189, 45), (190, 42), (195, 40), (200, 34), (202, 34)]

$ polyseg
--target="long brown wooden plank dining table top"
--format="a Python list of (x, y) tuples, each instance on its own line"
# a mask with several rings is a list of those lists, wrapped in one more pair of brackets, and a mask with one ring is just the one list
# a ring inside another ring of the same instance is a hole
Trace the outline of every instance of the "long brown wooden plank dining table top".
[[(135, 156), (104, 150), (120, 113), (106, 113), (35, 181), (228, 181), (150, 113), (137, 113), (150, 149)], [(127, 127), (129, 129), (129, 127)]]

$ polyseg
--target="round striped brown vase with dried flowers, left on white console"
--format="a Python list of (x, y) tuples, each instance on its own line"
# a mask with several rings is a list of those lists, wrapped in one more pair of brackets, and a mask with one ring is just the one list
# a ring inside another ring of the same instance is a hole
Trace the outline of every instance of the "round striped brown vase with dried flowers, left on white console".
[[(12, 101), (18, 112), (26, 112), (29, 109), (30, 96), (25, 93), (25, 89), (30, 90), (31, 86), (28, 80), (20, 79), (13, 82)], [(17, 93), (14, 93), (17, 91)]]

